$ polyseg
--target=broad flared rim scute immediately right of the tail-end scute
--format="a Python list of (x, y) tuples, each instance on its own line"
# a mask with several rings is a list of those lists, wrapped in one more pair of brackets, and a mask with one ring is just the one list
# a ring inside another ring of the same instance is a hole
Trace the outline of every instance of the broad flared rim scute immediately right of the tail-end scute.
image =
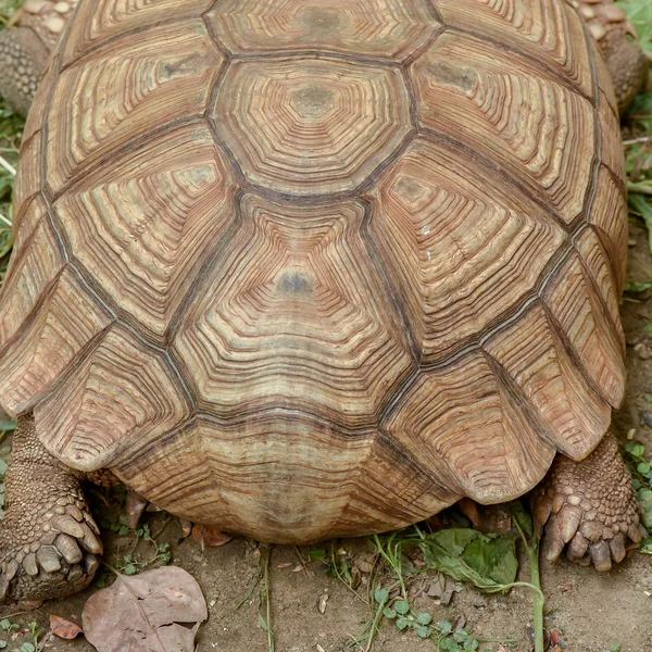
[(478, 350), (423, 372), (384, 428), (451, 492), (480, 503), (521, 496), (555, 453)]

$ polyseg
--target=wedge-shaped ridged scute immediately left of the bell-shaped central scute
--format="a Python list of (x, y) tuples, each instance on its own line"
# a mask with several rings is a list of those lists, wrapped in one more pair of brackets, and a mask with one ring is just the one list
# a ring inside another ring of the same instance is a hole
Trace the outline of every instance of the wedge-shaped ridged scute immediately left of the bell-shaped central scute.
[(75, 259), (163, 336), (234, 222), (231, 177), (208, 128), (184, 127), (93, 171), (54, 210)]

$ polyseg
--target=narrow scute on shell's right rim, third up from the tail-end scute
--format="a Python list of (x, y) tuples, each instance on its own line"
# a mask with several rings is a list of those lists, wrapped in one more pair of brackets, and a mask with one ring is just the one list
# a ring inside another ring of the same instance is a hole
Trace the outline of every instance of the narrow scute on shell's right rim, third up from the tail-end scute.
[(623, 350), (577, 253), (552, 276), (543, 301), (585, 377), (617, 410), (625, 390)]

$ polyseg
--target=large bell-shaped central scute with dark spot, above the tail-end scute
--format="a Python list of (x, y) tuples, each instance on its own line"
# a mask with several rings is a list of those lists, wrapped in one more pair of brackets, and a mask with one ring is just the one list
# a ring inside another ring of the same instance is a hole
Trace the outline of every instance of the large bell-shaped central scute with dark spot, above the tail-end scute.
[(296, 205), (250, 193), (173, 342), (221, 417), (287, 408), (358, 427), (414, 362), (361, 237), (358, 201)]

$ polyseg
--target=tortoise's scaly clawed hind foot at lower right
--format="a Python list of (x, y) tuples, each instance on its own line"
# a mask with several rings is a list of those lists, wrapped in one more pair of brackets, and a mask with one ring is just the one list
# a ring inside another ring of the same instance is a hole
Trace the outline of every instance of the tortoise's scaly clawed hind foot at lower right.
[(562, 552), (579, 563), (609, 570), (625, 559), (629, 543), (648, 532), (631, 477), (607, 434), (581, 462), (557, 455), (546, 480), (535, 490), (535, 523), (546, 529), (543, 553), (555, 561)]

